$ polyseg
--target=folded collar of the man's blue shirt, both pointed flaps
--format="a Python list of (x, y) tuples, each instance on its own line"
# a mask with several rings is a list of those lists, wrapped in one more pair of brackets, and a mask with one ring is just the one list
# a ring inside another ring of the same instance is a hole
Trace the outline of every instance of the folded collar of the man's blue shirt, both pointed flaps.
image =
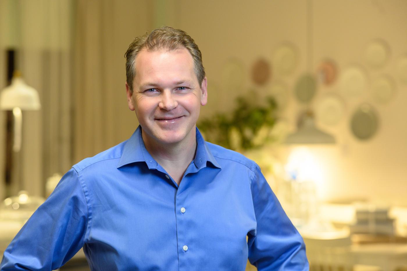
[[(206, 167), (207, 162), (210, 162), (213, 166), (221, 168), (215, 157), (210, 152), (208, 145), (206, 144), (198, 128), (196, 128), (196, 138), (197, 151), (193, 160), (195, 166), (201, 169)], [(140, 125), (137, 127), (136, 131), (134, 131), (133, 135), (131, 135), (129, 140), (127, 140), (117, 168), (134, 162), (145, 162), (149, 169), (156, 169), (158, 166), (158, 163), (150, 155), (146, 149), (146, 146), (144, 145)]]

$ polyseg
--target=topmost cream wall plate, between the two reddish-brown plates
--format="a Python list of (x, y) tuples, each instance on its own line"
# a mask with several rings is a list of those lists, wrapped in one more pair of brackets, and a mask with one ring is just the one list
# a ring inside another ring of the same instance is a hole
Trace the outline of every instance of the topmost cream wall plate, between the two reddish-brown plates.
[(273, 54), (273, 68), (278, 75), (289, 75), (298, 63), (298, 54), (291, 43), (280, 45)]

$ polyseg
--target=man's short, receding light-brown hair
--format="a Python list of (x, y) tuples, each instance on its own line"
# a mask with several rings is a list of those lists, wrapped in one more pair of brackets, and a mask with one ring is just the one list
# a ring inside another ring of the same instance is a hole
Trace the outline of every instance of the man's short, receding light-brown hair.
[(181, 29), (174, 29), (171, 26), (157, 28), (151, 33), (146, 33), (136, 37), (129, 45), (125, 53), (126, 57), (126, 80), (131, 93), (133, 93), (133, 79), (136, 76), (135, 61), (138, 53), (147, 49), (148, 51), (176, 50), (184, 47), (191, 54), (194, 61), (194, 72), (199, 84), (205, 78), (205, 69), (202, 65), (202, 54), (195, 41)]

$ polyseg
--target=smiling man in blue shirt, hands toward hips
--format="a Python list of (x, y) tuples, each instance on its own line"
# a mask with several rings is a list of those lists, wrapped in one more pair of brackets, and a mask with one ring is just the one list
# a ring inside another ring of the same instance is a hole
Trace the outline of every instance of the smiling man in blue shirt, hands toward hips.
[[(131, 138), (74, 165), (4, 252), (1, 270), (51, 270), (81, 247), (92, 270), (307, 270), (303, 240), (260, 168), (205, 142), (201, 52), (156, 29), (126, 52)], [(248, 239), (246, 239), (246, 237)]]

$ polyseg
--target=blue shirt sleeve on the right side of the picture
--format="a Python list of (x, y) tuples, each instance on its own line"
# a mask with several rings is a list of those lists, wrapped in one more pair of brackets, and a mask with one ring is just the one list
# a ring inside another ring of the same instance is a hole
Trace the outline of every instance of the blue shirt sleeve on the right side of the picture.
[(309, 270), (304, 240), (257, 165), (251, 190), (257, 226), (248, 234), (249, 262), (259, 271)]

